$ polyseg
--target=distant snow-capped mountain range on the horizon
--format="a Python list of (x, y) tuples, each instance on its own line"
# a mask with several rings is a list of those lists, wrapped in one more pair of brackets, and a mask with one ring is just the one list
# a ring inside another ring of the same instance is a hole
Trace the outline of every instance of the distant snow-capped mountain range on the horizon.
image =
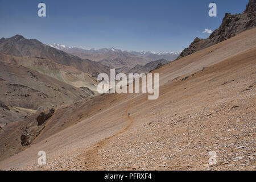
[(98, 61), (107, 67), (117, 68), (121, 72), (126, 72), (136, 65), (143, 66), (155, 60), (173, 61), (180, 54), (180, 52), (123, 51), (116, 48), (84, 49), (56, 43), (49, 46), (79, 56), (81, 59)]

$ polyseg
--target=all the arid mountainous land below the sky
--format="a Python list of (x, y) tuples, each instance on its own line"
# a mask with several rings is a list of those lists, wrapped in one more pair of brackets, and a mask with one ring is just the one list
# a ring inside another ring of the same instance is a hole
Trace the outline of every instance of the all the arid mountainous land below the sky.
[[(0, 39), (0, 170), (255, 171), (255, 6), (179, 57)], [(158, 99), (100, 94), (110, 68), (158, 73)]]

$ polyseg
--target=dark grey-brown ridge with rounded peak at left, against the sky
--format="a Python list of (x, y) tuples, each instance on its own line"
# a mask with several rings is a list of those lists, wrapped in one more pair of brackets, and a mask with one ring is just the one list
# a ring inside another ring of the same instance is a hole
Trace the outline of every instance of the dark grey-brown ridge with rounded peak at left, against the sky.
[(73, 56), (59, 51), (35, 39), (25, 39), (21, 35), (0, 40), (0, 52), (13, 56), (36, 56), (55, 61), (56, 63), (75, 67), (82, 72), (97, 76), (99, 73), (109, 73), (110, 68), (101, 63)]

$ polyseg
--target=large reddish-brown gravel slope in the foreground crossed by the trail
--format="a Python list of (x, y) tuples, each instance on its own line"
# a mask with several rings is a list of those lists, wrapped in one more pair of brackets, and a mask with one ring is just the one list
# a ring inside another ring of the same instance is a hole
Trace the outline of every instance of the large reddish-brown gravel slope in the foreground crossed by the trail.
[[(0, 168), (255, 169), (255, 45), (253, 28), (156, 69), (158, 100), (103, 94), (91, 98), (91, 110), (88, 100), (61, 106), (34, 144)], [(3, 127), (0, 137), (8, 143), (19, 125)], [(40, 150), (46, 166), (37, 164)]]

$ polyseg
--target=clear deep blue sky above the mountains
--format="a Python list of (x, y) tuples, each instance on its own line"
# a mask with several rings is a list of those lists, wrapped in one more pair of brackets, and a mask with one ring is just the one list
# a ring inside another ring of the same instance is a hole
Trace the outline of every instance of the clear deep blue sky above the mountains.
[[(248, 1), (0, 0), (0, 38), (19, 34), (70, 47), (181, 51), (196, 37), (207, 38), (225, 13), (242, 13)], [(46, 17), (38, 16), (41, 2)], [(208, 15), (212, 2), (216, 17)]]

